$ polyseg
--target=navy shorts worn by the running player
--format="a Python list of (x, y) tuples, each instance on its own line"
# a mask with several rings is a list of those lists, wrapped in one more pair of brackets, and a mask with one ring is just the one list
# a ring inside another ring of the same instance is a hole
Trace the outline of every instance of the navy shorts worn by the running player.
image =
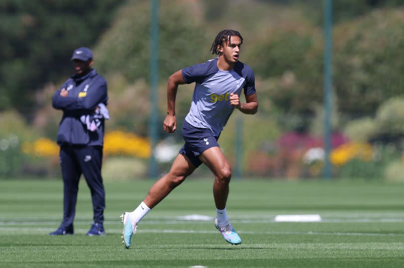
[(213, 136), (210, 129), (194, 127), (187, 120), (184, 120), (183, 124), (183, 137), (185, 144), (180, 149), (180, 154), (186, 155), (195, 168), (202, 164), (198, 157), (200, 154), (211, 147), (219, 147), (217, 143), (219, 137)]

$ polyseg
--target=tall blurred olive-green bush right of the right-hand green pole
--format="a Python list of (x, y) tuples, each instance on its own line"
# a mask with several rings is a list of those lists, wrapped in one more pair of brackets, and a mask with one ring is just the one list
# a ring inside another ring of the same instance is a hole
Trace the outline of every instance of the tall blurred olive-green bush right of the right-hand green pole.
[(373, 115), (384, 100), (402, 94), (403, 14), (404, 8), (380, 9), (336, 25), (334, 90), (343, 113)]

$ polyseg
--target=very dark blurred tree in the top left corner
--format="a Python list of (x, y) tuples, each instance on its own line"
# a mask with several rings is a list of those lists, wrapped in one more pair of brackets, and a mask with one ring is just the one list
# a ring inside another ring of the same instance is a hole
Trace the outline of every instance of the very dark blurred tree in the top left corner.
[(0, 110), (30, 114), (35, 90), (72, 73), (72, 51), (91, 47), (122, 1), (0, 1)]

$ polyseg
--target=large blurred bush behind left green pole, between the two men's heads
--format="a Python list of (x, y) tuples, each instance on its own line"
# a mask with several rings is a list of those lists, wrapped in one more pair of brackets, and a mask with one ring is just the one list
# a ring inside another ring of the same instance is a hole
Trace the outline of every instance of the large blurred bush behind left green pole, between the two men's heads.
[[(158, 53), (159, 77), (205, 61), (213, 37), (206, 39), (192, 2), (160, 1), (159, 51), (151, 51), (150, 3), (129, 1), (95, 49), (101, 73), (121, 73), (129, 81), (149, 79), (150, 54)], [(134, 16), (133, 14), (136, 14)], [(210, 40), (211, 39), (211, 40)]]

